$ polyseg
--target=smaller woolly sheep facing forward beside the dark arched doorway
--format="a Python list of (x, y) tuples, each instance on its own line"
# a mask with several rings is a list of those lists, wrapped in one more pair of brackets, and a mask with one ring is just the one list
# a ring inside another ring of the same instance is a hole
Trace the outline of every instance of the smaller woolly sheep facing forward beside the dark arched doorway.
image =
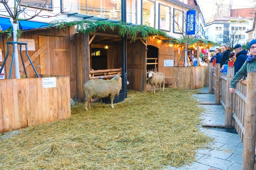
[(161, 91), (161, 85), (163, 86), (163, 90), (164, 90), (165, 89), (165, 74), (163, 74), (162, 72), (154, 73), (153, 71), (149, 71), (148, 72), (148, 83), (151, 85), (151, 93), (153, 92), (153, 87), (154, 87), (154, 93), (155, 93), (155, 86), (157, 86), (158, 84), (160, 85), (160, 91)]

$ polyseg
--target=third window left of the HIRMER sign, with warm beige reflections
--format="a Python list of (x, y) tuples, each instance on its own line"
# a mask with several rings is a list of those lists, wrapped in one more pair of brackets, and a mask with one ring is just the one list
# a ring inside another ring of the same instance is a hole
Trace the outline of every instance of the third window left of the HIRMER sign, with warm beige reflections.
[(142, 4), (142, 24), (155, 28), (155, 3), (143, 0)]

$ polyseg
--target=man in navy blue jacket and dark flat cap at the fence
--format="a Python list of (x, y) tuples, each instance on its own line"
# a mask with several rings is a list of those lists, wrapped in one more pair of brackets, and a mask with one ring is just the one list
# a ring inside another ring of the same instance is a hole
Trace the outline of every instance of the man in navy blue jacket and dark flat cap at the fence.
[(248, 51), (242, 50), (241, 44), (237, 44), (234, 46), (234, 51), (237, 53), (237, 59), (236, 62), (234, 62), (234, 75), (240, 70), (240, 68), (243, 66), (244, 62), (247, 59), (247, 53)]

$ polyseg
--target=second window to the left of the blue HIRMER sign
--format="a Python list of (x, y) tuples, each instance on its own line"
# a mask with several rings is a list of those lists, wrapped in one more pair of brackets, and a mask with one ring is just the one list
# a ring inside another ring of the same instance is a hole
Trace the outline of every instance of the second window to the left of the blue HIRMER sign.
[(159, 18), (158, 18), (158, 29), (171, 31), (170, 23), (171, 23), (171, 8), (168, 6), (164, 6), (159, 4)]

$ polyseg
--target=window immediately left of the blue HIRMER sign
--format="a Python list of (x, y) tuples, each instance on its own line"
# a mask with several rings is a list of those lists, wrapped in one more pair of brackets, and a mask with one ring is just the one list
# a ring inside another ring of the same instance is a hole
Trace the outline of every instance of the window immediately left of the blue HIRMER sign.
[(173, 8), (173, 32), (183, 33), (183, 11)]

